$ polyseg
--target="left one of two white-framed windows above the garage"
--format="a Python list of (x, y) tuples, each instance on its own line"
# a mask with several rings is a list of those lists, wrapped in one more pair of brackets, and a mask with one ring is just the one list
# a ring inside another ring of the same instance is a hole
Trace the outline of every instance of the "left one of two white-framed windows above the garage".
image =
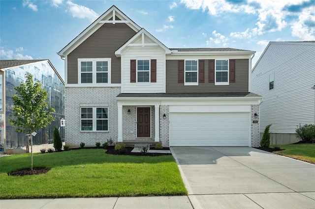
[(185, 85), (198, 85), (198, 60), (185, 60)]

